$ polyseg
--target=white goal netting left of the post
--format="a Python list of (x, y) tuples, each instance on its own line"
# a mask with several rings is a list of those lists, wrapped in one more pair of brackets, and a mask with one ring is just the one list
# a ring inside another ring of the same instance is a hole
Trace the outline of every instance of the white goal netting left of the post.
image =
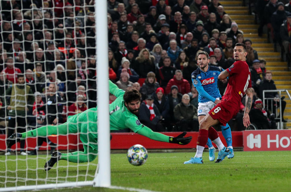
[[(62, 153), (83, 151), (78, 133), (44, 138), (42, 147), (29, 138), (25, 148), (16, 146), (16, 153), (15, 147), (7, 151), (5, 146), (5, 133), (10, 136), (15, 127), (23, 132), (61, 124), (69, 115), (96, 107), (95, 13), (94, 5), (85, 2), (0, 1), (0, 188), (92, 181), (95, 176), (97, 159), (83, 164), (59, 161), (44, 171), (54, 144)], [(25, 89), (19, 74), (25, 76)], [(52, 101), (54, 83), (57, 96)], [(42, 101), (34, 103), (34, 98)], [(19, 110), (10, 109), (14, 100)], [(28, 152), (38, 155), (25, 155)]]

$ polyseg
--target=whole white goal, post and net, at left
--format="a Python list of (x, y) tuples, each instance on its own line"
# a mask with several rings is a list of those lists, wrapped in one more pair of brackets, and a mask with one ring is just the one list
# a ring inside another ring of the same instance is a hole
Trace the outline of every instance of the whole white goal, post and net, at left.
[(0, 1), (0, 191), (110, 186), (106, 7)]

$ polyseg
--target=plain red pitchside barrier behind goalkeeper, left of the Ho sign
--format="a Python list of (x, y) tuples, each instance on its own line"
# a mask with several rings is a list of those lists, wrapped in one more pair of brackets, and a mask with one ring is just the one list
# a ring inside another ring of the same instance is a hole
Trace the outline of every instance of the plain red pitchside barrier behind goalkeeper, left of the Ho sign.
[[(176, 137), (181, 132), (162, 132), (165, 135)], [(223, 138), (221, 132), (219, 137), (222, 138), (222, 143), (226, 145), (226, 141)], [(132, 145), (140, 144), (145, 146), (147, 149), (179, 149), (179, 148), (196, 148), (196, 141), (198, 138), (199, 132), (187, 132), (186, 136), (192, 136), (192, 141), (188, 145), (174, 145), (172, 143), (159, 142), (152, 140), (150, 138), (144, 137), (137, 133), (111, 133), (112, 140), (110, 147), (111, 149), (128, 149)], [(69, 150), (82, 149), (82, 142), (79, 140), (79, 136), (75, 134), (70, 135), (59, 135), (59, 136), (49, 136), (49, 139), (58, 143), (58, 150), (67, 150), (67, 145), (69, 143)], [(233, 147), (243, 147), (243, 132), (242, 131), (233, 131), (232, 132), (232, 146)], [(68, 142), (69, 141), (69, 142)], [(28, 145), (27, 150), (33, 150), (36, 146), (36, 138), (27, 138), (25, 148)], [(216, 145), (213, 144), (215, 147)], [(18, 146), (19, 147), (19, 146)], [(5, 151), (5, 135), (0, 135), (0, 151)], [(12, 147), (15, 149), (15, 145)], [(46, 150), (46, 144), (42, 145), (39, 150)]]

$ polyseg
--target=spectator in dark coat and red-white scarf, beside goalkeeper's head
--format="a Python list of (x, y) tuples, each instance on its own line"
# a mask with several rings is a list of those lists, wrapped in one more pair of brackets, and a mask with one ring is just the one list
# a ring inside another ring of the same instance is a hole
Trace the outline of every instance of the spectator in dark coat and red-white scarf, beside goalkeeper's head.
[(142, 102), (139, 109), (140, 122), (152, 129), (155, 132), (164, 131), (164, 127), (159, 121), (161, 120), (161, 114), (159, 109), (154, 104), (152, 95), (146, 97), (145, 102)]

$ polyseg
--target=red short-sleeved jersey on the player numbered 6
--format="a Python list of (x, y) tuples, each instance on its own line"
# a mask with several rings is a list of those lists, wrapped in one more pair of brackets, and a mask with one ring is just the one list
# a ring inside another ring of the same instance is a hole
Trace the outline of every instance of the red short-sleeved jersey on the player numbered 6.
[(230, 75), (222, 99), (226, 99), (233, 106), (239, 107), (243, 96), (246, 94), (246, 89), (252, 87), (249, 66), (246, 61), (236, 61), (226, 70)]

